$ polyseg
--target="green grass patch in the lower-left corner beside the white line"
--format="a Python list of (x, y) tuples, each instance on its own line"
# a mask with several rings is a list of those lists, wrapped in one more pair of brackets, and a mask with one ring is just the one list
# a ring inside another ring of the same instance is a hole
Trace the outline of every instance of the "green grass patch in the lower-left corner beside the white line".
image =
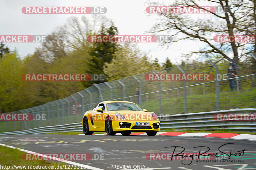
[[(65, 163), (62, 163), (59, 161), (23, 160), (22, 155), (24, 153), (26, 152), (19, 151), (18, 149), (12, 149), (5, 146), (0, 146), (0, 157), (1, 157), (0, 165), (11, 166), (11, 168), (12, 168), (12, 165), (16, 165), (16, 166), (38, 166), (38, 165), (47, 166), (49, 165), (49, 166), (55, 166), (55, 167), (57, 167), (58, 165), (60, 166), (66, 165)], [(3, 168), (3, 169), (7, 169), (7, 168)], [(20, 168), (20, 169), (23, 170), (23, 168)], [(55, 169), (58, 170), (57, 168)]]

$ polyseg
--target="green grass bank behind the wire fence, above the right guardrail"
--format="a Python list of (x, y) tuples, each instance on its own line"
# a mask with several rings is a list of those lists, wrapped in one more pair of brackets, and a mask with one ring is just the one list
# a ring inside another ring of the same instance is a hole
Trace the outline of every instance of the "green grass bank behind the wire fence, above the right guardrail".
[[(187, 113), (215, 111), (215, 93), (190, 95), (188, 89), (187, 93)], [(147, 109), (148, 111), (154, 111), (158, 113), (158, 103), (159, 102), (156, 100), (148, 101), (142, 103), (142, 108)], [(175, 98), (162, 97), (161, 105), (162, 114), (179, 114), (184, 112), (183, 96)], [(256, 89), (245, 91), (220, 92), (220, 110), (236, 108), (256, 108), (255, 106)]]

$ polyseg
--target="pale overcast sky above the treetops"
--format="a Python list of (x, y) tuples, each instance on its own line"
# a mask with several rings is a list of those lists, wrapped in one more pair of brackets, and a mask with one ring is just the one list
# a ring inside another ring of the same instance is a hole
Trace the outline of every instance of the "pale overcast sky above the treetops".
[[(170, 0), (161, 1), (164, 4), (172, 3)], [(24, 6), (104, 6), (107, 8), (106, 17), (113, 19), (118, 28), (119, 35), (149, 35), (149, 31), (157, 14), (146, 13), (148, 6), (141, 0), (0, 0), (1, 32), (0, 35), (47, 35), (57, 26), (64, 25), (70, 16), (80, 18), (85, 15), (91, 18), (92, 14), (23, 14)], [(192, 14), (195, 15), (195, 14)], [(196, 14), (197, 15), (197, 14)], [(158, 34), (164, 35), (164, 34)], [(21, 56), (32, 54), (40, 43), (4, 43), (11, 50), (16, 48)], [(162, 48), (159, 43), (138, 43), (149, 56), (158, 58), (163, 63), (169, 57), (176, 64), (181, 63), (182, 53), (197, 50), (202, 43), (183, 41), (168, 44), (169, 49)]]

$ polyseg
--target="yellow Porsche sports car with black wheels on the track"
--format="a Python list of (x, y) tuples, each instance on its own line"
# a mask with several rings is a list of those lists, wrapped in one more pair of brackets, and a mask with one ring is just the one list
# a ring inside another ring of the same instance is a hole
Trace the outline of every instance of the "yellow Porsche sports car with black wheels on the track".
[(160, 121), (156, 113), (141, 110), (135, 103), (105, 101), (84, 113), (83, 131), (85, 135), (106, 131), (108, 135), (121, 132), (123, 136), (129, 136), (131, 132), (146, 132), (148, 136), (155, 136), (160, 131)]

